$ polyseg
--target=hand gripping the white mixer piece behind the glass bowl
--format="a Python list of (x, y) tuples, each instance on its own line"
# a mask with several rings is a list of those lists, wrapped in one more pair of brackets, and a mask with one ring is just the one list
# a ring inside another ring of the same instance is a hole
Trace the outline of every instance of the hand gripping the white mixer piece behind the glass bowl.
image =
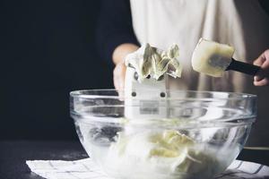
[(116, 90), (124, 90), (126, 78), (126, 55), (136, 51), (138, 47), (134, 44), (122, 44), (118, 46), (113, 52), (113, 62), (115, 68), (113, 71), (113, 81)]

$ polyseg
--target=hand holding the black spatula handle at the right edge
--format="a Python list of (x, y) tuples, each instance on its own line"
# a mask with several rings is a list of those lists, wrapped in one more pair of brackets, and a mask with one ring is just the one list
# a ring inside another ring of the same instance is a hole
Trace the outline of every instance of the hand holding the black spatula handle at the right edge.
[(254, 85), (255, 86), (266, 86), (269, 85), (269, 49), (265, 50), (265, 52), (260, 55), (254, 63), (261, 67), (261, 70), (257, 72), (254, 77)]

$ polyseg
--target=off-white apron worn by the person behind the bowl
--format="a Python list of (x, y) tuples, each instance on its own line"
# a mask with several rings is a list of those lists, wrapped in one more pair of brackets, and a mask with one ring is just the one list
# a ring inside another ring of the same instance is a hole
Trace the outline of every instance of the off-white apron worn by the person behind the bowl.
[[(182, 78), (171, 89), (223, 90), (258, 95), (258, 118), (249, 145), (269, 146), (269, 88), (254, 87), (250, 76), (226, 72), (213, 78), (194, 72), (191, 55), (199, 38), (235, 47), (235, 59), (252, 63), (269, 48), (269, 16), (257, 0), (130, 0), (138, 41), (163, 49), (177, 43)], [(268, 115), (267, 115), (268, 114)]]

